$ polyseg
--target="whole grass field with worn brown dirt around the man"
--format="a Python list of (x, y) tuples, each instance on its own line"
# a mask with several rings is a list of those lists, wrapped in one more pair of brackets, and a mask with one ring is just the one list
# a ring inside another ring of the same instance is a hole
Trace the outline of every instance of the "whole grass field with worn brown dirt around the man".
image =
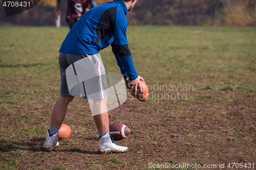
[[(237, 169), (228, 167), (232, 162), (256, 168), (256, 28), (129, 26), (134, 65), (150, 96), (146, 103), (129, 96), (109, 112), (110, 123), (132, 133), (118, 141), (129, 152), (106, 155), (97, 154), (96, 126), (81, 98), (65, 119), (71, 136), (55, 151), (41, 151), (68, 31), (0, 26), (0, 169)], [(100, 54), (107, 72), (119, 72), (110, 47)]]

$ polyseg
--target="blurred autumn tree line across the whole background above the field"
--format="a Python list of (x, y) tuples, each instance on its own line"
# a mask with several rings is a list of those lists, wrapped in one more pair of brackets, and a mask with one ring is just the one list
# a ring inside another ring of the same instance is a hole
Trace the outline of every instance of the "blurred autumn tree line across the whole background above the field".
[[(108, 0), (95, 0), (102, 4)], [(3, 6), (1, 23), (18, 25), (55, 25), (55, 1), (41, 0), (34, 8), (6, 17)], [(67, 0), (61, 2), (61, 25), (66, 25)], [(179, 26), (256, 26), (256, 0), (138, 0), (127, 13), (130, 25)]]

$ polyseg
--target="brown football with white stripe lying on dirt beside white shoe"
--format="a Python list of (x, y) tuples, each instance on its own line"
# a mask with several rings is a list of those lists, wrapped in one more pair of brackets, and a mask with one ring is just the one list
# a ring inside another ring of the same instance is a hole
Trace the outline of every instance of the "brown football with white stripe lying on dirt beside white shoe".
[(113, 123), (110, 125), (110, 135), (114, 140), (121, 140), (127, 137), (131, 130), (124, 124)]

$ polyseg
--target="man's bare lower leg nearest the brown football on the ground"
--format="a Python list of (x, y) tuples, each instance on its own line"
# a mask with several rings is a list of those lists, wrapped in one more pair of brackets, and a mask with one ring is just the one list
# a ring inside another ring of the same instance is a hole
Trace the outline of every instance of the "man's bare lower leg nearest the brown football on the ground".
[(107, 98), (103, 100), (94, 100), (93, 103), (93, 118), (99, 132), (109, 130), (109, 114), (106, 109)]

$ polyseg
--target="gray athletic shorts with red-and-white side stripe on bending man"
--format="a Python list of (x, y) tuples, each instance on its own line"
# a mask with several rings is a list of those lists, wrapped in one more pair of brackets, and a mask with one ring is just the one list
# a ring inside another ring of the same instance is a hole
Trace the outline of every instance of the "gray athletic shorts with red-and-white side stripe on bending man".
[(60, 95), (82, 96), (84, 99), (104, 99), (105, 68), (98, 54), (59, 53)]

